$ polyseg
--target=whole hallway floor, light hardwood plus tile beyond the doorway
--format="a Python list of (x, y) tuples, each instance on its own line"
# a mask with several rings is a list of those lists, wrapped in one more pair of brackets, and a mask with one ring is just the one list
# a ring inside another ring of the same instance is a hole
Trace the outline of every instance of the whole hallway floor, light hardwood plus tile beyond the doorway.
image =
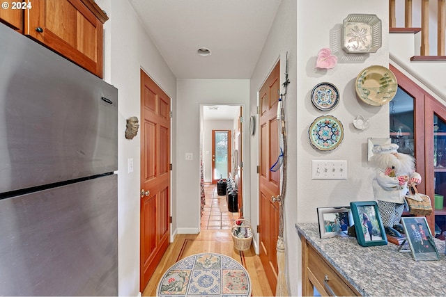
[[(252, 296), (273, 296), (260, 258), (250, 250), (240, 252), (233, 248), (231, 225), (238, 214), (229, 213), (226, 196), (218, 196), (215, 186), (206, 186), (206, 206), (201, 219), (199, 234), (177, 234), (173, 243), (157, 266), (142, 296), (156, 296), (157, 284), (162, 275), (178, 260), (199, 252), (217, 252), (232, 257), (242, 264), (249, 273), (252, 283)], [(219, 217), (220, 216), (220, 217)], [(220, 223), (218, 221), (220, 220)]]

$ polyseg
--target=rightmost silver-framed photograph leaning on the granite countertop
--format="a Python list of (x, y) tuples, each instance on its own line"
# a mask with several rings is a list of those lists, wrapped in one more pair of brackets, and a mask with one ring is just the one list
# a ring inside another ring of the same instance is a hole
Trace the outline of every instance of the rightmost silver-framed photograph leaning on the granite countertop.
[(402, 217), (401, 222), (403, 223), (406, 240), (409, 242), (410, 251), (415, 261), (440, 259), (425, 216)]

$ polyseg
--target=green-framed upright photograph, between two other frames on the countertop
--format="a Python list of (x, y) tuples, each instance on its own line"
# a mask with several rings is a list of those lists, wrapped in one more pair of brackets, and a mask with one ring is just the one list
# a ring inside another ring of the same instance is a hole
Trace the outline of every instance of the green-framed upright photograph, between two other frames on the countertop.
[(360, 246), (384, 246), (387, 244), (383, 220), (376, 201), (350, 202), (357, 243)]

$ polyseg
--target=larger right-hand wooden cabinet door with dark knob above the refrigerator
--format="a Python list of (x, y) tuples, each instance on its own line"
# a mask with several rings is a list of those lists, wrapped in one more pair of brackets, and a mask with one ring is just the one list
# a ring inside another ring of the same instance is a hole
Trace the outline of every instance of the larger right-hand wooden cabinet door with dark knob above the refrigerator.
[(34, 1), (24, 34), (102, 78), (102, 22), (81, 0)]

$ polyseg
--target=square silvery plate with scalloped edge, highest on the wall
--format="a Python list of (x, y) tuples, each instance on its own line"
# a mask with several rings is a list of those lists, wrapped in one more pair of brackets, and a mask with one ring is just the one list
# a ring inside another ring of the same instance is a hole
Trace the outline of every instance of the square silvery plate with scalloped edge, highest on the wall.
[(381, 20), (376, 15), (348, 15), (343, 25), (342, 49), (347, 53), (374, 53), (381, 47)]

